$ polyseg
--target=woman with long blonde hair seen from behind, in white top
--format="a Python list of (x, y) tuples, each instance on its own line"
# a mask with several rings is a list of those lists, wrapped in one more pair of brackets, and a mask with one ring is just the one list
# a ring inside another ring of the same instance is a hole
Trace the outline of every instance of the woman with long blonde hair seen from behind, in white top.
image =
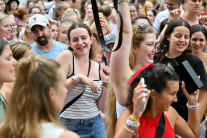
[(67, 91), (65, 81), (63, 70), (54, 60), (41, 56), (22, 59), (1, 137), (77, 138), (57, 119), (56, 112), (62, 109)]

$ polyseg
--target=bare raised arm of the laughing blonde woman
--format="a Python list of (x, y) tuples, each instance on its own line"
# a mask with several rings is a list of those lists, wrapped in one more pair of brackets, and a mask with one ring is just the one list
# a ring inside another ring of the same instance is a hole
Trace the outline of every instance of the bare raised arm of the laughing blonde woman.
[[(129, 67), (129, 53), (132, 40), (132, 25), (127, 2), (119, 4), (119, 10), (123, 16), (123, 40), (121, 48), (112, 52), (110, 61), (111, 81), (115, 91), (115, 95), (120, 104), (125, 105), (127, 99), (127, 81), (132, 75)], [(120, 20), (118, 17), (117, 33), (119, 33)], [(118, 35), (117, 35), (118, 36)], [(115, 46), (118, 43), (116, 39)]]

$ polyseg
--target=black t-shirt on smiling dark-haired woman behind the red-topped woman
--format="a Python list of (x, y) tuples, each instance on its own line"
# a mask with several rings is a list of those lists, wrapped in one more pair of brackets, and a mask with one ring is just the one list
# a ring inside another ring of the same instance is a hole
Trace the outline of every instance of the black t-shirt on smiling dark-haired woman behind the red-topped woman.
[[(155, 56), (154, 63), (158, 63), (161, 59), (161, 56)], [(203, 82), (204, 86), (201, 89), (207, 89), (207, 75), (203, 65), (203, 62), (196, 56), (193, 55), (181, 55), (174, 60), (180, 64), (185, 60), (188, 60), (189, 64), (192, 66), (194, 71), (198, 76), (200, 76), (200, 80)], [(160, 62), (163, 64), (171, 63), (173, 67), (176, 66), (176, 62), (172, 58), (164, 57), (164, 59)], [(186, 121), (188, 120), (188, 109), (187, 109), (187, 98), (185, 97), (183, 90), (181, 88), (181, 80), (179, 80), (180, 88), (177, 93), (177, 103), (173, 103), (172, 106), (176, 109), (180, 116), (182, 116)]]

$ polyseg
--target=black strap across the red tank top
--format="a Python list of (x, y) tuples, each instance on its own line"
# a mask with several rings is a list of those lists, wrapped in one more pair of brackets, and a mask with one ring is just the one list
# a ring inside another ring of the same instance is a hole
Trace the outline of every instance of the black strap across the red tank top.
[(161, 138), (164, 132), (165, 132), (165, 118), (164, 118), (164, 112), (162, 112), (162, 115), (160, 116), (160, 121), (157, 125), (155, 138)]

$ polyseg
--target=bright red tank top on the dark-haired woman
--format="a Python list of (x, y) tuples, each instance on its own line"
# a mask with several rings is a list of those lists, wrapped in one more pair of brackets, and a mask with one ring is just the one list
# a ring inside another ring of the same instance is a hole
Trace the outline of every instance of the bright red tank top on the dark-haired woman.
[[(138, 138), (154, 138), (156, 134), (157, 125), (160, 120), (162, 112), (155, 117), (147, 117), (142, 115), (140, 118), (140, 127)], [(175, 131), (173, 130), (168, 118), (164, 115), (165, 118), (165, 132), (162, 135), (162, 138), (175, 138)]]

